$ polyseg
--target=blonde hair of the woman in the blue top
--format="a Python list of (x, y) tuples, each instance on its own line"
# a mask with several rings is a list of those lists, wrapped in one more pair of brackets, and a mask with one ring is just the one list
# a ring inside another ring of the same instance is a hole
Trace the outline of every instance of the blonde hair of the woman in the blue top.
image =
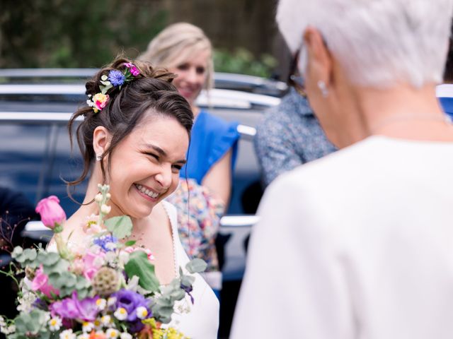
[(176, 67), (190, 60), (200, 52), (209, 51), (207, 60), (205, 88), (213, 85), (214, 63), (212, 45), (201, 28), (190, 23), (174, 23), (162, 30), (148, 44), (147, 51), (138, 59), (148, 61), (153, 66)]

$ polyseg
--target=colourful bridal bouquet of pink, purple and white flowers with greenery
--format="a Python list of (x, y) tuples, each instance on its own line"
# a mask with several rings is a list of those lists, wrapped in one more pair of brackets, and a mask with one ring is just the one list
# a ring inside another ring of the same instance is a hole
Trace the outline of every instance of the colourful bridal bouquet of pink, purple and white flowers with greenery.
[(7, 338), (186, 338), (171, 326), (171, 318), (189, 311), (195, 281), (190, 273), (202, 272), (206, 263), (190, 261), (188, 274), (179, 268), (178, 278), (161, 286), (150, 251), (125, 239), (132, 233), (130, 218), (105, 220), (109, 187), (99, 189), (99, 215), (91, 215), (84, 225), (84, 246), (71, 247), (62, 239), (66, 215), (57, 197), (38, 203), (42, 222), (54, 232), (57, 251), (14, 248), (16, 263), (6, 274), (16, 280), (18, 273), (25, 273), (25, 278), (16, 280), (20, 314), (13, 320), (0, 317)]

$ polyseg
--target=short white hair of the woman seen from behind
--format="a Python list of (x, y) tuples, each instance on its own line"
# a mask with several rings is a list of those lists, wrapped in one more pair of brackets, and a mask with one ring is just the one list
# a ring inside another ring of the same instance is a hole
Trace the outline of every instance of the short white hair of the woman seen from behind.
[(453, 0), (280, 0), (277, 23), (289, 48), (308, 25), (357, 85), (420, 88), (442, 81)]

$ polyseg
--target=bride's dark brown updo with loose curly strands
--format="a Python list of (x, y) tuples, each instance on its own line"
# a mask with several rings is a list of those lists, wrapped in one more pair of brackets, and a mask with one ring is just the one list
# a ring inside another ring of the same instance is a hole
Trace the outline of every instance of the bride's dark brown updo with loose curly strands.
[[(166, 69), (154, 69), (145, 61), (116, 59), (86, 82), (86, 95), (100, 93), (101, 77), (108, 76), (108, 73), (114, 69), (124, 71), (127, 63), (137, 66), (140, 71), (138, 76), (129, 83), (123, 84), (121, 88), (119, 86), (110, 88), (106, 93), (109, 95), (108, 103), (101, 111), (95, 113), (92, 107), (81, 107), (69, 120), (68, 130), (72, 149), (74, 123), (79, 117), (84, 117), (76, 128), (76, 141), (84, 158), (84, 169), (79, 178), (67, 182), (68, 192), (71, 186), (80, 184), (88, 177), (96, 160), (93, 150), (93, 131), (98, 126), (105, 127), (112, 136), (108, 149), (101, 155), (102, 158), (111, 155), (115, 147), (143, 121), (144, 117), (152, 115), (176, 119), (185, 128), (190, 138), (193, 112), (185, 98), (171, 84), (176, 75)], [(110, 170), (110, 157), (108, 157), (107, 169)], [(105, 179), (103, 161), (101, 161), (101, 171)]]

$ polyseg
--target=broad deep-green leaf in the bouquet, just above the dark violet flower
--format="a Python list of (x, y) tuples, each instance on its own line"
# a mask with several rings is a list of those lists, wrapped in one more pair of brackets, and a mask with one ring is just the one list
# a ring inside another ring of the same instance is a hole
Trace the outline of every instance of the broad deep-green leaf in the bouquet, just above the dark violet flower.
[(125, 264), (127, 277), (139, 277), (139, 285), (149, 292), (159, 289), (159, 280), (154, 273), (154, 265), (149, 262), (144, 251), (134, 251), (130, 254), (129, 261)]

